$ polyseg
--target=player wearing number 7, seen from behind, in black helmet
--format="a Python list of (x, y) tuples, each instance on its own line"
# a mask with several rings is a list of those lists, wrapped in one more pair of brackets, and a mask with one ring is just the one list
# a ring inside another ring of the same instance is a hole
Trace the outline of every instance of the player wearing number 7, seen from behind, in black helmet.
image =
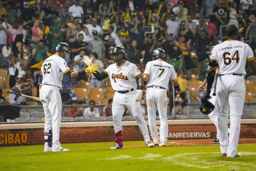
[[(155, 49), (152, 54), (153, 61), (147, 63), (143, 73), (144, 85), (147, 87), (148, 125), (156, 146), (166, 146), (168, 136), (167, 122), (167, 94), (169, 78), (171, 78), (177, 97), (181, 90), (176, 73), (172, 65), (166, 63), (165, 51)], [(160, 118), (160, 140), (156, 128), (156, 109)]]

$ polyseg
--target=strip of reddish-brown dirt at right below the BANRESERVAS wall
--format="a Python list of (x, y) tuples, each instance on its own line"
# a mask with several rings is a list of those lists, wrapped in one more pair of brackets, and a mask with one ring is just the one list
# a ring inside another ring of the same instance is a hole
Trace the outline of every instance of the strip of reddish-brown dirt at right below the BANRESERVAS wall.
[[(173, 142), (168, 142), (169, 144), (179, 144), (179, 145), (191, 145), (191, 144), (194, 144), (194, 145), (197, 145), (197, 144), (200, 144), (200, 145), (216, 145), (216, 144), (211, 144), (210, 141), (212, 141), (213, 139), (204, 139), (204, 140), (176, 140), (176, 141), (173, 141)], [(256, 144), (256, 139), (239, 139), (239, 142), (238, 144)]]

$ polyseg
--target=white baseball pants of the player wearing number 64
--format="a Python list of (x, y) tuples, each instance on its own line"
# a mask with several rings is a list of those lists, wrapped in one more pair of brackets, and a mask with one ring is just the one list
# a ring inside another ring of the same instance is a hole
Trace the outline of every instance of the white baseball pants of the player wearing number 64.
[[(244, 76), (225, 74), (219, 76), (216, 88), (219, 108), (220, 151), (227, 157), (236, 156), (241, 116), (244, 108)], [(230, 133), (228, 142), (228, 104), (230, 106)]]

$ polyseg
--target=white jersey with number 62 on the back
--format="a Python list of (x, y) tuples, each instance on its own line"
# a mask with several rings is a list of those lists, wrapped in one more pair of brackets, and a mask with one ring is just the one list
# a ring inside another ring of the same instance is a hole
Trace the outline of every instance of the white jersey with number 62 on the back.
[(61, 81), (63, 74), (70, 71), (65, 59), (59, 55), (52, 55), (45, 59), (41, 67), (41, 74), (43, 74), (42, 85), (49, 84), (52, 86), (62, 87)]

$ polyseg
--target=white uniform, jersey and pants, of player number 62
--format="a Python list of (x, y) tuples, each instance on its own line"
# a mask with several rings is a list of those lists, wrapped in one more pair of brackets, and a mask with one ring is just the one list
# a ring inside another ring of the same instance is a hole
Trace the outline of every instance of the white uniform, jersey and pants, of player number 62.
[[(60, 146), (60, 122), (61, 122), (61, 97), (60, 89), (63, 74), (70, 71), (65, 59), (59, 55), (52, 55), (44, 60), (41, 68), (43, 74), (42, 87), (39, 90), (39, 96), (44, 107), (45, 124), (44, 133), (49, 133), (52, 128), (52, 151), (56, 152), (62, 149)], [(49, 137), (44, 136), (47, 140)], [(47, 143), (44, 144), (47, 148)]]

